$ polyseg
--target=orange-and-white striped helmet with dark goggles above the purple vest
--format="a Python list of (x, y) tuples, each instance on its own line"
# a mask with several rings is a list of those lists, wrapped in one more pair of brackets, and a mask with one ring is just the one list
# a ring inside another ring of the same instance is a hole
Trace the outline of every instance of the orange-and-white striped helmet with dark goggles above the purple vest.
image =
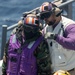
[(23, 19), (23, 25), (26, 32), (39, 31), (39, 19), (36, 16), (26, 16)]

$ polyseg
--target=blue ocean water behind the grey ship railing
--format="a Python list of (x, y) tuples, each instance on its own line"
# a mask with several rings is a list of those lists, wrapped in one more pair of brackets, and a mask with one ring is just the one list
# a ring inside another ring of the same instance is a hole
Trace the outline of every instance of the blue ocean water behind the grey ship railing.
[[(17, 23), (21, 19), (23, 12), (39, 7), (46, 1), (53, 0), (0, 0), (0, 49), (2, 25), (10, 26)], [(75, 20), (74, 7), (73, 3), (73, 19)]]

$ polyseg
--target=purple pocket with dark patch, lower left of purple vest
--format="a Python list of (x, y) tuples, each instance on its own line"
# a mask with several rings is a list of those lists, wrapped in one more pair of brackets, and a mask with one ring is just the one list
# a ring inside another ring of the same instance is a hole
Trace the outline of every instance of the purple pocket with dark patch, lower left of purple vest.
[(10, 73), (16, 73), (18, 69), (18, 56), (16, 54), (9, 55), (8, 70)]

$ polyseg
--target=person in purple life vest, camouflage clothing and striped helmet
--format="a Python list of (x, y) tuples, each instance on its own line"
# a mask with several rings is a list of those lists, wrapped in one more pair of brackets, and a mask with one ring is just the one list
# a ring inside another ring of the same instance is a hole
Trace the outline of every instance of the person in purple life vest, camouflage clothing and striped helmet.
[(4, 50), (2, 75), (51, 75), (49, 48), (36, 15), (28, 14), (13, 30)]

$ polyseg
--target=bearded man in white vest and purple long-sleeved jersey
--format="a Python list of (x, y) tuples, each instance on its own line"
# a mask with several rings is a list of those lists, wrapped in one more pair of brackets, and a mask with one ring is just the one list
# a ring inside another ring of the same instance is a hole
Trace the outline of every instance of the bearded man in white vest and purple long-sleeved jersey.
[(52, 72), (66, 70), (75, 75), (75, 22), (62, 16), (62, 9), (54, 3), (44, 2), (39, 10), (40, 19), (46, 25), (43, 32), (48, 41)]

